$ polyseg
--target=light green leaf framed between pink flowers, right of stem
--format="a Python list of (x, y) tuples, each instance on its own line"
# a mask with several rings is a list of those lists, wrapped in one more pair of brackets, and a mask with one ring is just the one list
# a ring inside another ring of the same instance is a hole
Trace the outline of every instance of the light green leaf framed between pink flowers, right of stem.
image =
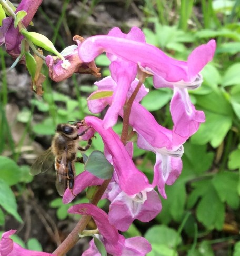
[(165, 106), (172, 97), (168, 88), (150, 91), (142, 100), (142, 105), (149, 111), (155, 111)]

